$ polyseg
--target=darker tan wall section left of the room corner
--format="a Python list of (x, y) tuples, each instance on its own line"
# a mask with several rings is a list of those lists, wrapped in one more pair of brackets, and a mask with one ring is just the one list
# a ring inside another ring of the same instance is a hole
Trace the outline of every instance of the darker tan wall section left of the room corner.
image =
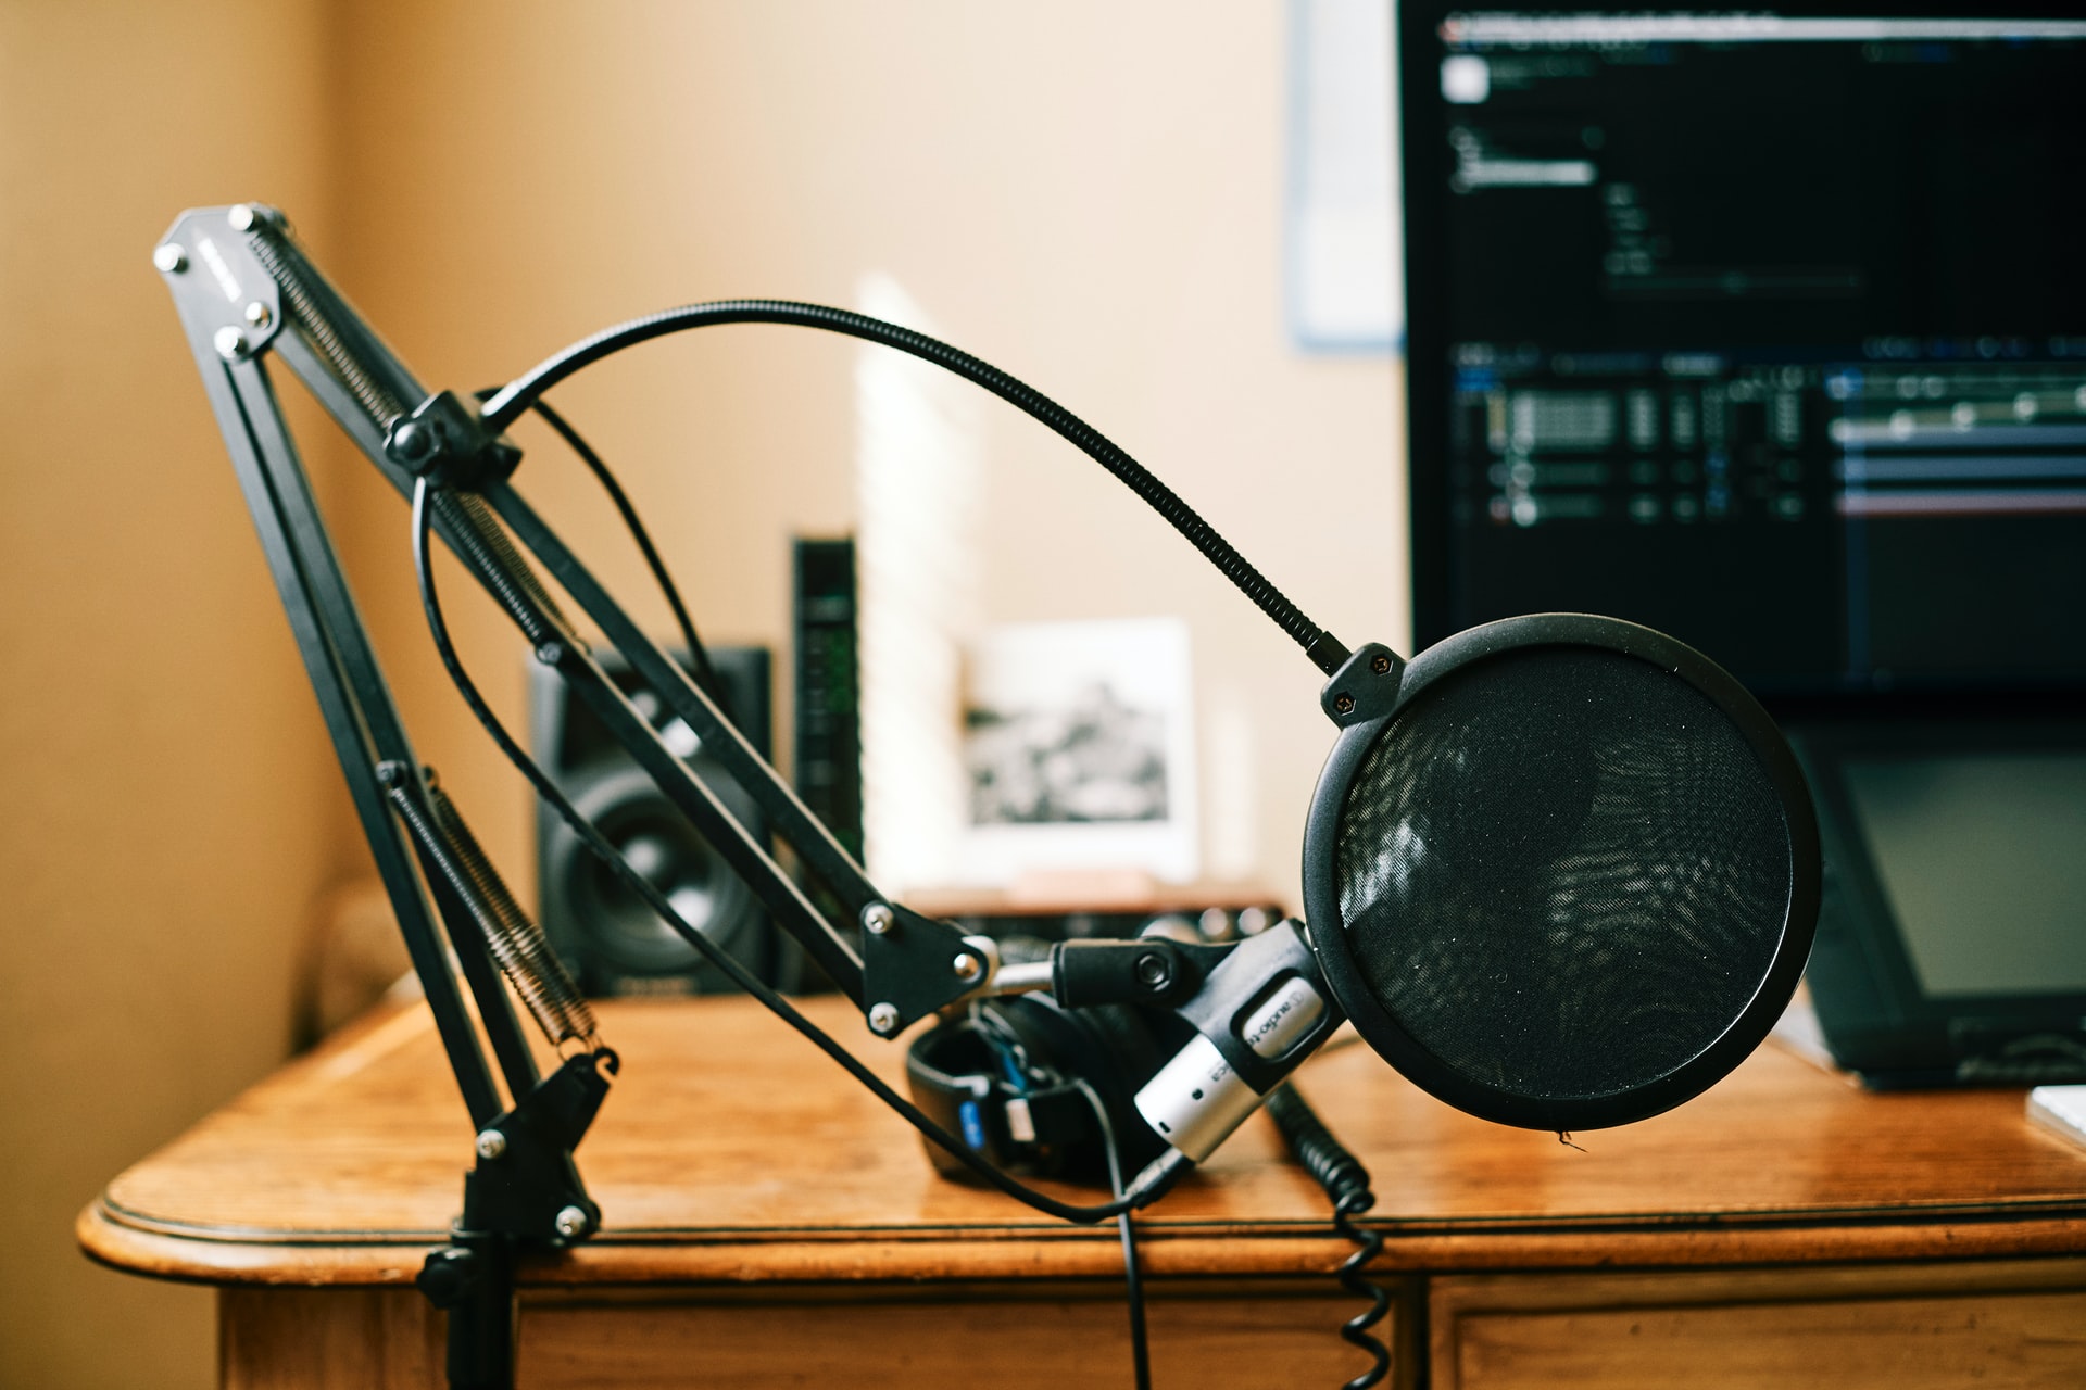
[[(311, 696), (150, 252), (280, 190), (330, 244), (323, 8), (0, 4), (0, 1384), (204, 1386), (211, 1296), (73, 1213), (273, 1067), (344, 865)], [(323, 465), (323, 458), (317, 461)]]

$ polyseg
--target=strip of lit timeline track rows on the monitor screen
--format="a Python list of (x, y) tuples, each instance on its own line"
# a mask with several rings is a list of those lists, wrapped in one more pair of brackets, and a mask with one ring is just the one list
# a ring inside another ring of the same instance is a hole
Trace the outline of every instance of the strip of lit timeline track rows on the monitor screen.
[(1558, 354), (1535, 383), (1504, 361), (1458, 348), (1460, 523), (2086, 513), (2086, 361), (1894, 371)]

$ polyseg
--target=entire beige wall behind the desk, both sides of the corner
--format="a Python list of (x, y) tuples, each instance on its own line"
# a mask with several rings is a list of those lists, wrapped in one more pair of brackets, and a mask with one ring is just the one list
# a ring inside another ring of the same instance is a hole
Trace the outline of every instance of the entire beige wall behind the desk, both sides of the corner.
[[(0, 1082), (0, 1384), (207, 1382), (207, 1298), (88, 1267), (67, 1227), (282, 1052), (298, 923), (361, 861), (148, 269), (173, 213), (282, 204), (455, 388), (663, 304), (847, 304), (889, 273), (1314, 619), (1400, 644), (1398, 381), (1283, 327), (1283, 38), (1277, 0), (0, 0), (0, 990), (29, 1044)], [(561, 392), (709, 636), (782, 644), (786, 536), (851, 527), (853, 354), (720, 329)], [(1206, 704), (1252, 729), (1220, 779), (1250, 804), (1206, 817), (1250, 815), (1245, 867), (1291, 892), (1316, 673), (1099, 469), (987, 419), (987, 615), (1189, 619)], [(526, 882), (528, 806), (426, 652), (405, 508), (332, 446), (311, 461), (421, 754)], [(538, 448), (522, 483), (663, 617), (574, 465)], [(451, 592), (519, 717), (517, 646)]]

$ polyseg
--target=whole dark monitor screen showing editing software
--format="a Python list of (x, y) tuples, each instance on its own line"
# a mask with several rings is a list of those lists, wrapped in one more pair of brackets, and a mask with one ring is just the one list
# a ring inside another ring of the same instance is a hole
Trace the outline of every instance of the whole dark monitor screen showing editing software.
[(1863, 8), (1402, 6), (1423, 646), (2086, 686), (2086, 19)]

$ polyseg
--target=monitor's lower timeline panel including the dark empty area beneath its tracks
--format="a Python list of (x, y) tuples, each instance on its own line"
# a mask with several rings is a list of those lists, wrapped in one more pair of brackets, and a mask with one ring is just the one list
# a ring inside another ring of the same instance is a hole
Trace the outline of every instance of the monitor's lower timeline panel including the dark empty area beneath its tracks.
[(2078, 665), (2078, 350), (1738, 365), (1462, 344), (1448, 494), (1464, 600), (1708, 631), (1769, 690), (1804, 669), (1888, 684)]

